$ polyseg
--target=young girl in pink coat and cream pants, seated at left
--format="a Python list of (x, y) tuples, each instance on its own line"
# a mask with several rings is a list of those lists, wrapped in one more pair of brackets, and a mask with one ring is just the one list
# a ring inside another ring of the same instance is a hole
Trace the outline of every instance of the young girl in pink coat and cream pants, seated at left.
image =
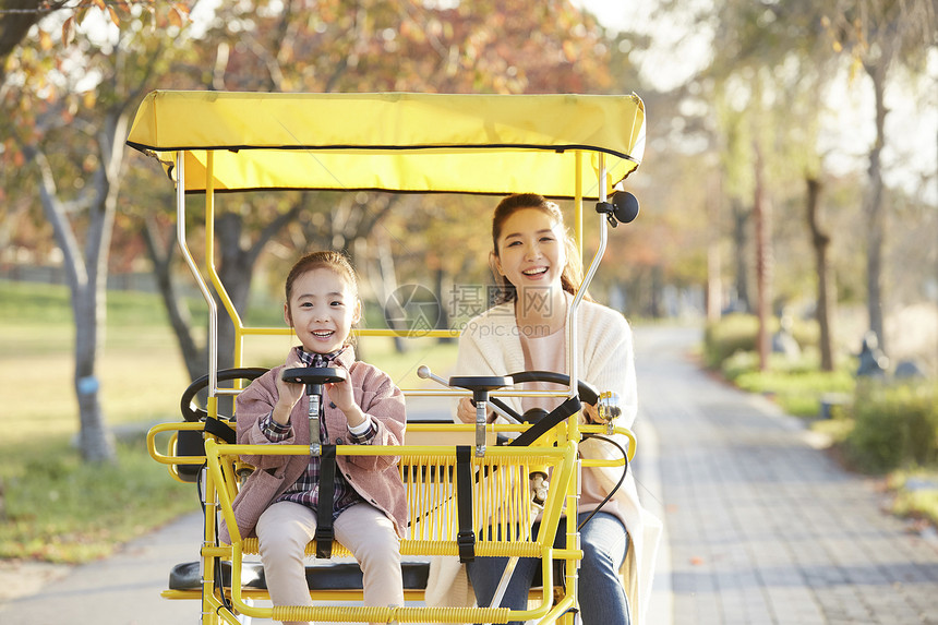
[[(337, 445), (399, 445), (404, 394), (390, 377), (356, 361), (350, 333), (361, 317), (354, 271), (338, 252), (302, 257), (287, 276), (284, 318), (302, 344), (286, 364), (258, 377), (237, 400), (238, 443), (309, 445), (303, 384), (284, 382), (294, 366), (345, 369), (325, 384), (320, 438)], [(303, 564), (314, 538), (318, 456), (243, 456), (256, 469), (233, 502), (242, 537), (256, 533), (274, 605), (312, 605)], [(363, 574), (364, 605), (404, 604), (400, 538), (407, 525), (404, 483), (392, 456), (336, 456), (333, 525)], [(227, 528), (221, 538), (229, 540)]]

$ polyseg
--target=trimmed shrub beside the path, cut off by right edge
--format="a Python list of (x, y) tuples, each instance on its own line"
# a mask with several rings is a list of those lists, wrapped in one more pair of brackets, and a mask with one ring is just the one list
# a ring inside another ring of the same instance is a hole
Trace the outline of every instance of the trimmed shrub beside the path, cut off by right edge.
[(857, 383), (854, 428), (845, 441), (861, 470), (885, 472), (938, 461), (938, 407), (934, 384)]

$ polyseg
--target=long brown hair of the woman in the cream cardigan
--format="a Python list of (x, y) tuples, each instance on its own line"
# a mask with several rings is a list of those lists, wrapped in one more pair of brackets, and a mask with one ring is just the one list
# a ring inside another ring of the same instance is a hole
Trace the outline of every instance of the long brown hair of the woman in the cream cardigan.
[[(498, 255), (498, 237), (502, 236), (502, 228), (505, 226), (505, 221), (522, 208), (537, 208), (553, 218), (561, 226), (562, 243), (567, 257), (564, 271), (561, 273), (561, 286), (566, 292), (576, 295), (584, 276), (579, 250), (577, 249), (576, 241), (574, 241), (574, 238), (570, 237), (564, 226), (564, 214), (561, 212), (561, 207), (546, 200), (543, 195), (539, 195), (538, 193), (515, 193), (498, 203), (495, 207), (495, 214), (492, 216), (492, 247), (495, 251), (495, 256)], [(501, 304), (515, 301), (518, 298), (515, 285), (509, 283), (508, 278), (501, 275), (494, 267), (492, 267), (492, 273), (495, 275), (495, 283), (498, 287), (494, 303)]]

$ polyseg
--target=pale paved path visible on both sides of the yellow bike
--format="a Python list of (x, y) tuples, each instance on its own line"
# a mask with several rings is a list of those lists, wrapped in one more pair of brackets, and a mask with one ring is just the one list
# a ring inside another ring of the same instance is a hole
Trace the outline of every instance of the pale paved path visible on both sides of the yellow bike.
[[(636, 328), (636, 476), (668, 537), (648, 625), (938, 624), (938, 545), (883, 514), (874, 481), (832, 462), (797, 420), (698, 371), (686, 358), (698, 340)], [(200, 536), (184, 517), (0, 603), (0, 624), (195, 624), (194, 602), (159, 592)]]

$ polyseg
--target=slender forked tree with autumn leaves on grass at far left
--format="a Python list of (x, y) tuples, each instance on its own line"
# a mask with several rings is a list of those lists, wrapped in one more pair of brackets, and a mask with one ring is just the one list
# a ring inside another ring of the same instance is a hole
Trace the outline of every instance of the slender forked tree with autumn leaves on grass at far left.
[[(124, 21), (112, 11), (106, 12), (113, 17), (112, 28), (99, 24), (100, 36), (81, 38), (74, 46), (68, 44), (79, 15), (67, 16), (63, 26), (36, 23), (17, 53), (7, 58), (0, 87), (0, 106), (8, 112), (0, 158), (4, 168), (20, 167), (35, 181), (64, 257), (75, 323), (79, 440), (89, 461), (115, 458), (96, 365), (123, 142), (133, 107), (166, 49), (165, 39), (140, 38), (142, 23), (130, 9)], [(59, 33), (64, 40), (57, 40)]]

